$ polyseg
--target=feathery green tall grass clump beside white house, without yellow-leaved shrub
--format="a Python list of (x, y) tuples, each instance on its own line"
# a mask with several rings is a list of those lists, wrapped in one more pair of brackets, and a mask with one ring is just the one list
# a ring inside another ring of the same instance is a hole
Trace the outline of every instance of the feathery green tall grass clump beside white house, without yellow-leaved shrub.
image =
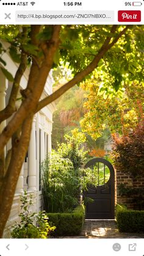
[(46, 212), (69, 211), (77, 204), (77, 178), (70, 159), (56, 152), (41, 165), (42, 194)]

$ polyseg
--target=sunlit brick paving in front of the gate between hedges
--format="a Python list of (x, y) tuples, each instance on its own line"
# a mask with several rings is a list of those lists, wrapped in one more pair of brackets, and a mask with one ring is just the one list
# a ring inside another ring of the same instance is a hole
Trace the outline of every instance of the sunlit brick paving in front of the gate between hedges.
[(144, 233), (120, 233), (115, 220), (86, 219), (81, 235), (63, 238), (144, 238)]

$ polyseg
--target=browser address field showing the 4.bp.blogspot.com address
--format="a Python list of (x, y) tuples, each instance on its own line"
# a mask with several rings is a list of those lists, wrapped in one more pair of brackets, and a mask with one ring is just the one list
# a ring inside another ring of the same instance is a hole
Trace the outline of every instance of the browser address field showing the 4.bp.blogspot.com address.
[(112, 10), (84, 10), (84, 11), (16, 11), (16, 22), (113, 22)]

